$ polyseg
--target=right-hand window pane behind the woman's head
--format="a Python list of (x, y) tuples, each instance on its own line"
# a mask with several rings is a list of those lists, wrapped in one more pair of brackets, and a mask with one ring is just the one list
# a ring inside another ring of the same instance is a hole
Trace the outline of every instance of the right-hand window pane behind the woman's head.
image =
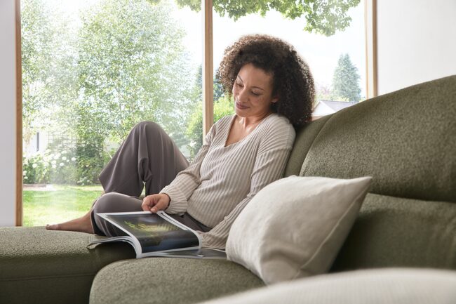
[[(238, 2), (246, 4), (246, 1), (243, 0), (231, 1), (227, 7), (235, 8), (235, 4)], [(288, 3), (288, 1), (285, 2)], [(290, 1), (289, 4), (292, 2), (300, 3), (301, 1)], [(323, 1), (321, 2), (323, 4)], [(351, 2), (356, 3), (356, 1)], [(319, 1), (315, 1), (315, 3), (318, 4)], [(257, 3), (257, 5), (262, 4)], [(239, 7), (242, 5), (239, 4)], [(250, 6), (245, 8), (248, 10)], [(330, 8), (330, 11), (335, 12), (337, 10)], [(309, 24), (305, 15), (290, 20), (274, 10), (267, 11), (264, 17), (260, 13), (239, 16), (236, 15), (236, 10), (233, 10), (232, 13), (239, 19), (235, 21), (234, 18), (229, 18), (229, 13), (226, 12), (224, 16), (220, 16), (215, 11), (213, 13), (215, 68), (222, 60), (224, 48), (231, 45), (239, 37), (245, 34), (269, 34), (295, 46), (298, 53), (309, 65), (314, 75), (317, 93), (314, 119), (337, 112), (337, 110), (365, 99), (366, 55), (363, 1), (347, 11), (347, 16), (351, 18), (349, 26), (344, 30), (335, 30), (335, 34), (330, 36), (318, 34), (315, 31), (305, 31), (304, 27)], [(340, 14), (335, 16), (338, 16), (340, 21), (344, 18)], [(323, 21), (318, 21), (320, 17), (321, 15), (318, 15), (317, 12), (316, 22), (324, 25)], [(215, 98), (214, 107), (217, 107), (216, 104), (217, 99)], [(215, 114), (217, 114), (216, 110)]]

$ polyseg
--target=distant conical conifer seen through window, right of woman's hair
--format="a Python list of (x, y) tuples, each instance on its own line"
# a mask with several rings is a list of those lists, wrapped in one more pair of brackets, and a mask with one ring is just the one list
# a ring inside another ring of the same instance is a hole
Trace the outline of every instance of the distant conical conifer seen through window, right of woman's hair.
[(361, 100), (360, 76), (358, 68), (351, 62), (348, 54), (341, 54), (333, 76), (333, 95), (342, 100)]

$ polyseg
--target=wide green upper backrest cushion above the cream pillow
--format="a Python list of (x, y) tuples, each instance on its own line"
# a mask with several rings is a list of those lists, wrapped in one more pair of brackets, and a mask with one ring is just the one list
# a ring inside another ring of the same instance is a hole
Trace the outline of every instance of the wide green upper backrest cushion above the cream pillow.
[(373, 176), (373, 193), (456, 202), (456, 76), (341, 110), (306, 137), (302, 176)]

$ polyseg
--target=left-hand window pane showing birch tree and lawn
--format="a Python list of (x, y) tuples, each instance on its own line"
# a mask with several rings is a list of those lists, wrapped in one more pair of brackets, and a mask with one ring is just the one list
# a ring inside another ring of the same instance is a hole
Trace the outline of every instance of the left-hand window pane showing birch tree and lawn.
[(191, 157), (201, 13), (172, 0), (22, 0), (21, 22), (24, 225), (88, 211), (98, 174), (140, 121)]

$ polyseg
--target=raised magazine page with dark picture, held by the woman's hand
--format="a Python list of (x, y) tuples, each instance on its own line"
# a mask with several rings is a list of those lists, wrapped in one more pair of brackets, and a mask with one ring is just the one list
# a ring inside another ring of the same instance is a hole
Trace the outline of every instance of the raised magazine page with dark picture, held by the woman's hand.
[[(105, 220), (120, 228), (131, 237), (137, 258), (153, 252), (199, 250), (199, 235), (189, 227), (178, 223), (163, 211), (150, 213), (121, 212), (98, 213)], [(119, 238), (123, 239), (124, 238)]]

